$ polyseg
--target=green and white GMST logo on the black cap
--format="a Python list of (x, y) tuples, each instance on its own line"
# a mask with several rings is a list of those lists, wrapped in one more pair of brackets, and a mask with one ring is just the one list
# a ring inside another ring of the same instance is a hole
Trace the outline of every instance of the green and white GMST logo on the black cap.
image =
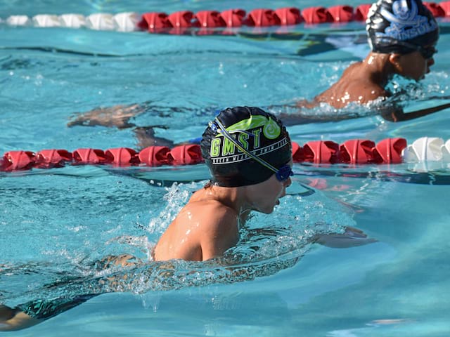
[[(255, 156), (278, 150), (288, 143), (285, 137), (276, 143), (268, 141), (281, 135), (281, 127), (270, 117), (261, 115), (252, 115), (248, 119), (229, 126), (226, 131), (244, 150), (252, 152)], [(210, 156), (212, 164), (228, 164), (250, 158), (221, 133), (211, 140)]]

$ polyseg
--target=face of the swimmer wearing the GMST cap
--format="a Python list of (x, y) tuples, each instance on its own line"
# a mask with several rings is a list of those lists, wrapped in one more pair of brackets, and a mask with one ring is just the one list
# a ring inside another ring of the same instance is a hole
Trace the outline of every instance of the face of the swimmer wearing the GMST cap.
[[(292, 159), (288, 163), (293, 166)], [(279, 199), (286, 194), (286, 188), (290, 186), (292, 180), (288, 179), (280, 181), (273, 174), (269, 179), (262, 183), (246, 186), (246, 196), (250, 202), (250, 207), (253, 211), (261, 213), (272, 213), (274, 207), (280, 204)]]

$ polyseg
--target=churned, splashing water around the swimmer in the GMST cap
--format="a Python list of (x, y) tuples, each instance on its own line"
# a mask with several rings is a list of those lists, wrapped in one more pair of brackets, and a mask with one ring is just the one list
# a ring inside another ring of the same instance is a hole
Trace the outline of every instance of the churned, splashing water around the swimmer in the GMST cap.
[[(153, 234), (163, 232), (191, 193), (202, 185), (174, 184), (167, 188), (165, 206), (155, 212), (147, 230)], [(152, 243), (146, 236), (122, 235), (109, 239), (103, 253), (135, 249), (146, 258), (132, 259), (126, 266), (98, 263), (92, 256), (81, 255), (59, 265), (4, 266), (0, 278), (2, 301), (20, 304), (46, 298), (70, 300), (85, 294), (147, 293), (248, 281), (292, 267), (307, 253), (317, 234), (343, 232), (347, 225), (354, 225), (352, 211), (320, 192), (309, 197), (288, 195), (281, 199), (273, 215), (251, 216), (240, 230), (238, 245), (222, 258), (155, 262), (148, 259)], [(27, 285), (20, 279), (27, 279)], [(18, 286), (6, 287), (14, 280)]]

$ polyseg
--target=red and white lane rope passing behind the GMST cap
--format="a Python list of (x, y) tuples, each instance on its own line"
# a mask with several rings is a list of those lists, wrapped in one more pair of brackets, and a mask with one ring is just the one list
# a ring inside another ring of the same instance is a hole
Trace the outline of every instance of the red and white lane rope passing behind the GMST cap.
[[(404, 138), (372, 140), (352, 139), (342, 144), (331, 140), (314, 140), (300, 146), (293, 142), (295, 163), (312, 164), (401, 164), (442, 162), (450, 164), (450, 139), (422, 137), (411, 145)], [(81, 148), (73, 152), (62, 149), (39, 152), (16, 150), (0, 157), (0, 171), (51, 169), (65, 165), (163, 166), (192, 165), (203, 162), (200, 145), (146, 147), (140, 152), (129, 147), (108, 150)], [(449, 165), (450, 167), (450, 165)]]

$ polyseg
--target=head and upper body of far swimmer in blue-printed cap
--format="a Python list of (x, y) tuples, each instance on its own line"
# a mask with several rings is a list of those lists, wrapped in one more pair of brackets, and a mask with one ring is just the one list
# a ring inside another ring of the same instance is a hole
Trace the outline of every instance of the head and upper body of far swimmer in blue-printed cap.
[[(311, 102), (297, 103), (298, 107), (327, 103), (342, 110), (351, 102), (386, 100), (392, 94), (385, 87), (395, 74), (419, 81), (430, 72), (435, 64), (439, 27), (421, 0), (380, 0), (371, 6), (366, 24), (371, 52), (363, 61), (350, 65), (333, 86)], [(415, 119), (439, 111), (429, 108), (405, 114), (399, 107), (381, 109), (381, 115), (389, 121)], [(296, 119), (301, 119), (296, 114), (280, 118), (285, 124), (296, 124)]]

